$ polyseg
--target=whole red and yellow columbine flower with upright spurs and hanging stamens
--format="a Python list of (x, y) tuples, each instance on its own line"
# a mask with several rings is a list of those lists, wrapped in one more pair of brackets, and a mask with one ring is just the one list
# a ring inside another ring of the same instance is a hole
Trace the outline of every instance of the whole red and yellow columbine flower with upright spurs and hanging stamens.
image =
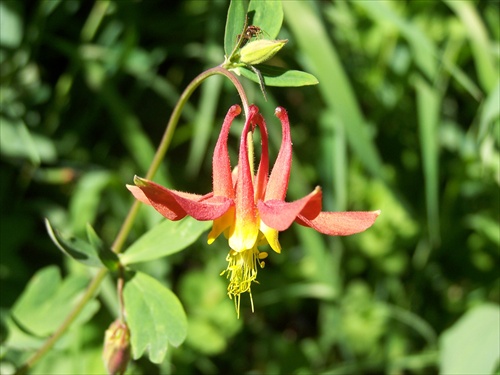
[[(282, 143), (271, 173), (266, 123), (254, 105), (248, 111), (241, 133), (238, 166), (232, 172), (227, 141), (231, 124), (240, 112), (240, 107), (233, 105), (224, 119), (213, 155), (213, 192), (206, 195), (183, 193), (137, 176), (134, 178), (136, 186), (127, 185), (138, 200), (153, 206), (169, 220), (180, 220), (187, 215), (196, 220), (213, 220), (208, 243), (214, 242), (221, 233), (228, 239), (229, 264), (222, 274), (227, 274), (230, 280), (228, 295), (235, 298), (238, 312), (241, 293), (249, 292), (252, 301), (251, 284), (256, 281), (258, 266), (263, 267), (263, 259), (267, 257), (258, 246), (269, 244), (280, 253), (278, 232), (295, 221), (324, 234), (346, 236), (369, 228), (380, 214), (380, 211), (322, 212), (319, 187), (302, 199), (285, 201), (292, 141), (288, 115), (282, 107), (275, 112), (282, 123)], [(262, 153), (254, 173), (251, 136), (257, 126)]]

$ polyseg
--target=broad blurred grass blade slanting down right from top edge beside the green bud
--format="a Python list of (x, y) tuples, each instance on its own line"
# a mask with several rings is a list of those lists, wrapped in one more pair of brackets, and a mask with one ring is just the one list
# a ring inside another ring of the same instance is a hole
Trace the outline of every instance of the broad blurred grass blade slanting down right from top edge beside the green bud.
[(306, 1), (285, 1), (285, 19), (301, 52), (308, 57), (307, 67), (319, 80), (319, 90), (327, 105), (342, 120), (350, 146), (375, 176), (382, 176), (382, 161), (368, 132), (356, 96), (331, 44), (321, 19)]

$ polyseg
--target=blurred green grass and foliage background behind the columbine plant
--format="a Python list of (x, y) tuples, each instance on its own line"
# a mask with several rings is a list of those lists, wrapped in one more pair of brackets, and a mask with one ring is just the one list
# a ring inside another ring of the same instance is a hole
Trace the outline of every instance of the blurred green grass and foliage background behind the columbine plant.
[[(273, 157), (281, 140), (274, 108), (289, 112), (288, 200), (320, 185), (325, 210), (382, 214), (348, 238), (298, 225), (282, 233), (283, 253), (270, 254), (252, 288), (255, 313), (244, 296), (240, 320), (219, 276), (224, 240), (207, 246), (202, 235), (186, 251), (141, 264), (179, 296), (190, 328), (163, 364), (143, 358), (128, 373), (498, 372), (499, 2), (283, 7), (279, 37), (289, 42), (272, 63), (320, 84), (268, 87), (265, 102), (258, 85), (242, 81), (267, 120)], [(132, 203), (125, 184), (145, 175), (180, 93), (223, 62), (227, 8), (227, 1), (0, 3), (2, 321), (43, 267), (89, 277), (52, 244), (43, 218), (82, 237), (91, 223), (112, 243)], [(238, 100), (221, 77), (203, 83), (155, 181), (210, 191), (211, 150)], [(142, 208), (130, 242), (159, 216)], [(117, 314), (111, 280), (98, 301), (95, 316), (32, 373), (104, 371), (102, 337)], [(8, 373), (39, 343), (13, 338), (5, 324), (1, 333)]]

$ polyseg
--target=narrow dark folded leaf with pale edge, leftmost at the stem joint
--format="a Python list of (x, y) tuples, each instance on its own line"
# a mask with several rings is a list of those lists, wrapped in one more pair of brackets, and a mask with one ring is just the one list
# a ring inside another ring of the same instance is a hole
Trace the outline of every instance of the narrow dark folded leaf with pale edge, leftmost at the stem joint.
[(54, 229), (47, 219), (45, 219), (45, 226), (54, 244), (64, 254), (89, 267), (103, 266), (99, 257), (99, 250), (96, 247), (76, 237), (65, 238), (61, 236), (59, 231)]

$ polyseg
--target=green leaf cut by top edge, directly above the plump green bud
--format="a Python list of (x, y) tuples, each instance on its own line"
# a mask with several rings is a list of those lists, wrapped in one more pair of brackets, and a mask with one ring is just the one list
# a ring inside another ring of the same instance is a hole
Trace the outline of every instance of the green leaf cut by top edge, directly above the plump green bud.
[(281, 0), (252, 0), (248, 5), (248, 24), (258, 26), (265, 39), (276, 39), (283, 23)]

